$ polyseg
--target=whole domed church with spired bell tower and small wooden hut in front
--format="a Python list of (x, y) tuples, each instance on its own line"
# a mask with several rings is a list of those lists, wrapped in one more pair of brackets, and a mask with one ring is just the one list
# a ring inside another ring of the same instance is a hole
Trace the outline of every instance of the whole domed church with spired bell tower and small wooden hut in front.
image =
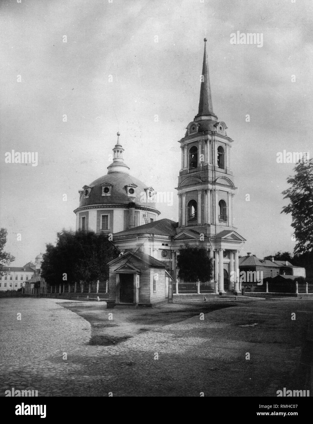
[[(108, 234), (121, 251), (108, 264), (111, 305), (161, 304), (181, 293), (240, 294), (238, 278), (230, 276), (239, 269), (245, 239), (233, 226), (237, 188), (230, 160), (233, 140), (226, 130), (213, 112), (205, 45), (198, 114), (179, 140), (178, 222), (157, 219), (155, 191), (130, 176), (119, 133), (107, 175), (79, 190), (77, 231)], [(213, 273), (206, 283), (191, 287), (178, 280), (177, 257), (186, 246), (208, 252)]]

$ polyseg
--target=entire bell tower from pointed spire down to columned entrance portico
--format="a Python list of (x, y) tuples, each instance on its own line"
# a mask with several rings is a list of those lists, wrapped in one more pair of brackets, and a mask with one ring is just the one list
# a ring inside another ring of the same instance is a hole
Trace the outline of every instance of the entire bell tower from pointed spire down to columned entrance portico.
[(237, 188), (230, 161), (233, 140), (227, 135), (226, 124), (213, 112), (206, 38), (204, 42), (198, 114), (179, 140), (179, 219), (172, 248), (176, 258), (184, 246), (205, 247), (213, 269), (208, 281), (216, 293), (239, 294), (238, 257), (245, 239), (234, 227)]

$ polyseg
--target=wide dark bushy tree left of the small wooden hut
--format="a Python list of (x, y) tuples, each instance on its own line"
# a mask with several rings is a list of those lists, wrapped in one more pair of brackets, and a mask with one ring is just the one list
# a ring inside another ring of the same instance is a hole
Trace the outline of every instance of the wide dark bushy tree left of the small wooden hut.
[(106, 264), (118, 253), (105, 234), (63, 230), (58, 233), (55, 246), (47, 245), (47, 251), (43, 254), (41, 275), (51, 285), (65, 281), (83, 281), (89, 284), (98, 279), (107, 279)]

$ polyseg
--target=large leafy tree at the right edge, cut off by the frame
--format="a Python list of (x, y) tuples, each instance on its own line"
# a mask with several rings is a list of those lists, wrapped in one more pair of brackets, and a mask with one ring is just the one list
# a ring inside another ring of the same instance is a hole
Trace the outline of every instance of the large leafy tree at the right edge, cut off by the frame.
[(290, 203), (281, 213), (290, 213), (296, 237), (295, 254), (312, 251), (313, 248), (313, 159), (308, 164), (299, 162), (294, 168), (295, 175), (287, 179), (291, 185), (282, 194)]

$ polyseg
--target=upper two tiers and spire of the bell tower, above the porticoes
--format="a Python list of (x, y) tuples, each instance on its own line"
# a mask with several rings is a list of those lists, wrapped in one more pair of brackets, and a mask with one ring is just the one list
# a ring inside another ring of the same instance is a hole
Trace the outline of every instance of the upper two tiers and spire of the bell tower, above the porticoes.
[(226, 124), (213, 112), (206, 41), (205, 38), (198, 114), (179, 141), (181, 169), (177, 190), (179, 227), (209, 226), (209, 234), (215, 235), (233, 228), (236, 187), (230, 168), (233, 140), (227, 136)]

